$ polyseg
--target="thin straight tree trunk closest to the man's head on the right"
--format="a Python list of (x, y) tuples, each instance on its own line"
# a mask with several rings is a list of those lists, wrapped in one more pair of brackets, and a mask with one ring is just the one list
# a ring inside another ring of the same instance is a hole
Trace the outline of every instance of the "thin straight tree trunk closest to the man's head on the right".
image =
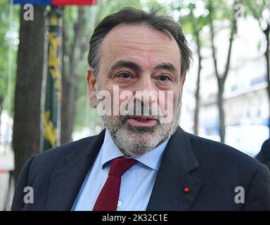
[(200, 71), (202, 69), (202, 54), (200, 52), (200, 37), (199, 32), (195, 32), (195, 41), (197, 44), (198, 50), (198, 74), (197, 74), (197, 87), (195, 91), (195, 112), (194, 112), (194, 134), (198, 135), (198, 127), (199, 127), (199, 113), (200, 113)]

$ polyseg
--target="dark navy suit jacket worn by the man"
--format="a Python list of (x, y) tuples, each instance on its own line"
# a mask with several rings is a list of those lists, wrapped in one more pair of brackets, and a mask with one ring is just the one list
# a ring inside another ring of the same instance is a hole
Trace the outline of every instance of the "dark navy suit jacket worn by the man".
[[(30, 158), (20, 173), (12, 210), (71, 210), (104, 134)], [(34, 203), (24, 203), (25, 186), (33, 188)], [(238, 186), (245, 203), (235, 201)], [(167, 144), (147, 210), (270, 210), (269, 169), (179, 127)]]

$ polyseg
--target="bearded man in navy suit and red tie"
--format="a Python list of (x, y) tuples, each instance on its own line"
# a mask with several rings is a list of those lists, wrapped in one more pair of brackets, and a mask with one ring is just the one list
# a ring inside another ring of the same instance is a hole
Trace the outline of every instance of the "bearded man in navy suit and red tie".
[(87, 74), (105, 130), (28, 160), (12, 210), (270, 210), (266, 166), (179, 127), (190, 61), (172, 18), (108, 15), (91, 37)]

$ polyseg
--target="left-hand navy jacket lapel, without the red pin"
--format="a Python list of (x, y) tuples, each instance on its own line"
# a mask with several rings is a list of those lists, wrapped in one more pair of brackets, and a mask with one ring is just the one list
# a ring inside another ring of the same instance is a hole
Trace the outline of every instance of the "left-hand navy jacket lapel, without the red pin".
[[(60, 162), (51, 175), (47, 210), (71, 210), (87, 172), (101, 149), (105, 130), (93, 141), (86, 141)], [(64, 165), (63, 165), (64, 164)]]

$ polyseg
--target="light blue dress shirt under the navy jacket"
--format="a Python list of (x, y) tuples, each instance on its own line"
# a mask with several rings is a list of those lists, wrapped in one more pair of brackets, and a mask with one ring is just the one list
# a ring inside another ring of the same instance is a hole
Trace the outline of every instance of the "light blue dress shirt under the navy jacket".
[[(122, 175), (117, 211), (146, 210), (168, 141), (169, 139), (135, 158), (138, 162)], [(112, 160), (121, 156), (124, 154), (117, 148), (108, 131), (105, 131), (101, 150), (84, 179), (72, 211), (93, 210), (101, 188), (108, 178)]]

